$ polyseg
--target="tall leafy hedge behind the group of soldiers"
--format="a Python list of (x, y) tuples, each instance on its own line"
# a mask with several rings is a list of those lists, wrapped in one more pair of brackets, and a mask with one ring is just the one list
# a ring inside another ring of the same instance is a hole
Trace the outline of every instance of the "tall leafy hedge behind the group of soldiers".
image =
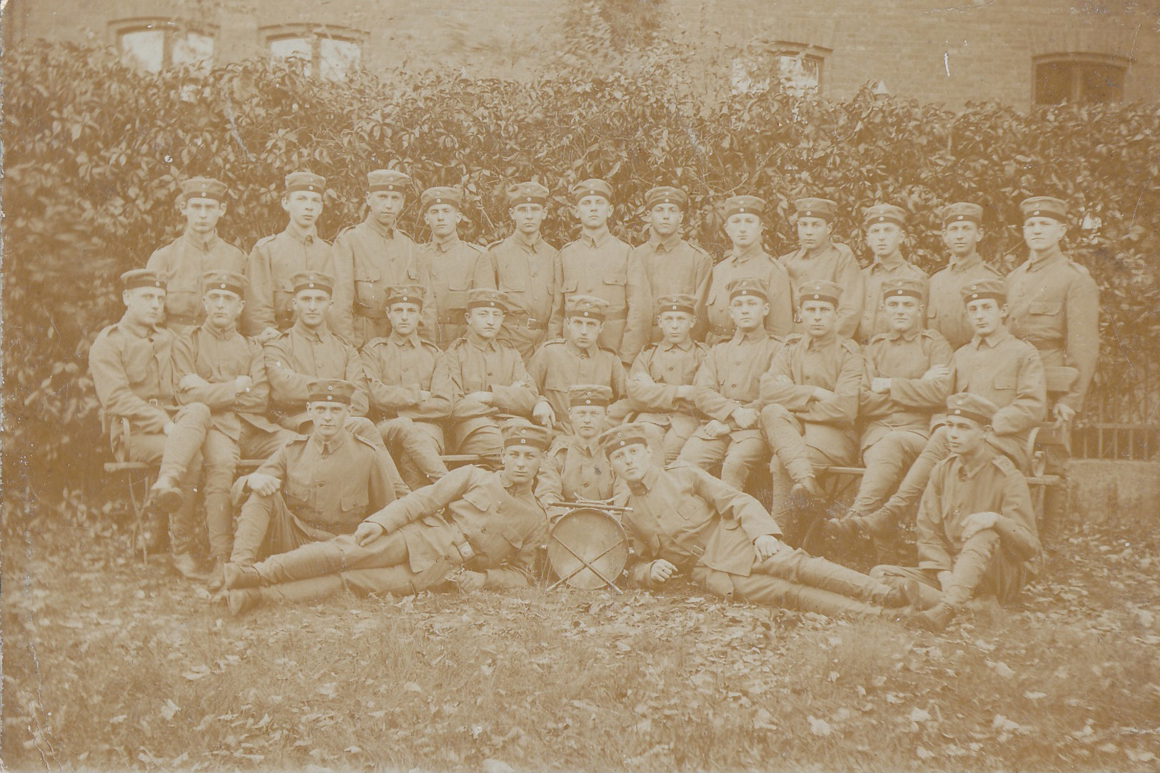
[[(773, 92), (709, 106), (674, 86), (682, 79), (673, 60), (596, 80), (392, 73), (335, 84), (258, 60), (144, 75), (107, 51), (38, 45), (6, 50), (3, 68), (6, 496), (30, 486), (58, 498), (100, 479), (106, 445), (87, 351), (121, 313), (117, 275), (180, 231), (179, 180), (194, 174), (230, 185), (222, 233), (244, 250), (283, 226), (287, 172), (327, 176), (319, 230), (331, 238), (361, 218), (364, 173), (392, 166), (420, 189), (463, 185), (464, 236), (481, 243), (505, 236), (502, 190), (528, 178), (553, 192), (545, 236), (557, 244), (575, 230), (565, 193), (577, 179), (614, 183), (614, 230), (633, 241), (643, 238), (644, 192), (683, 186), (690, 234), (716, 254), (718, 204), (734, 193), (763, 196), (778, 212), (766, 234), (774, 254), (792, 246), (784, 215), (799, 195), (835, 198), (835, 232), (856, 252), (860, 208), (891, 201), (911, 211), (906, 250), (928, 270), (944, 260), (941, 204), (986, 204), (981, 248), (1010, 266), (1023, 253), (1017, 202), (1057, 195), (1095, 226), (1073, 229), (1070, 247), (1103, 291), (1097, 391), (1139, 411), (1140, 374), (1157, 373), (1154, 110), (1024, 115), (972, 104), (955, 114), (868, 91), (848, 102)], [(413, 202), (404, 221), (425, 238)]]

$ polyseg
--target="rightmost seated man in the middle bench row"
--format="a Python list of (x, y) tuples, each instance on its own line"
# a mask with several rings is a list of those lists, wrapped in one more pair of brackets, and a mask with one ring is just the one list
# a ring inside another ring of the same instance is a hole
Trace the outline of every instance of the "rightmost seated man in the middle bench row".
[[(963, 303), (974, 326), (974, 338), (951, 357), (945, 378), (951, 392), (971, 392), (998, 406), (991, 418), (987, 445), (1022, 469), (1028, 463), (1027, 443), (1031, 429), (1046, 414), (1047, 393), (1039, 353), (1008, 332), (1005, 324), (1007, 287), (1001, 279), (984, 279), (963, 288)], [(930, 470), (950, 450), (942, 417), (922, 453), (886, 504), (862, 523), (876, 540), (891, 540), (899, 519), (918, 505), (930, 479)]]

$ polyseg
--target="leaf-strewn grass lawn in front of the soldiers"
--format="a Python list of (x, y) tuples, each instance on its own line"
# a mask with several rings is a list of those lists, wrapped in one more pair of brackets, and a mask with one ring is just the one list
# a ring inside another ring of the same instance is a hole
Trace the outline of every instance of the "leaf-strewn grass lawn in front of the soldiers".
[(3, 766), (1153, 771), (1158, 570), (1157, 535), (1073, 528), (942, 636), (693, 587), (234, 620), (118, 532), (9, 530)]

